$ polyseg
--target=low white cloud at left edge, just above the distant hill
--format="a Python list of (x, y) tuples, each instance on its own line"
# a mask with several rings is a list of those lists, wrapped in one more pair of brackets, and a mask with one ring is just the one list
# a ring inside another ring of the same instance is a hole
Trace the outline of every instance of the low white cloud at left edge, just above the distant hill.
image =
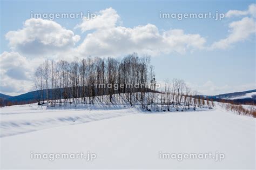
[(37, 59), (27, 59), (18, 52), (0, 55), (0, 92), (16, 95), (32, 89), (32, 77), (39, 64)]

